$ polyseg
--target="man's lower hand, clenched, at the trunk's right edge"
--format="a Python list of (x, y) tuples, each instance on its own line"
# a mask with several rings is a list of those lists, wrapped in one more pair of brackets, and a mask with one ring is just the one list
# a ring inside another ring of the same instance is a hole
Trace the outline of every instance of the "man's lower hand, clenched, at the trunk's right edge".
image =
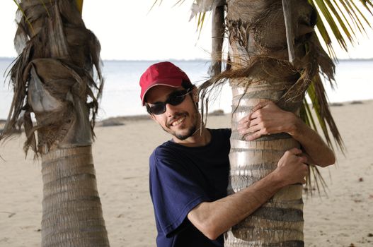
[(304, 179), (308, 174), (307, 158), (302, 154), (302, 150), (292, 148), (282, 155), (277, 163), (277, 168), (273, 171), (284, 186), (294, 183), (306, 183)]

